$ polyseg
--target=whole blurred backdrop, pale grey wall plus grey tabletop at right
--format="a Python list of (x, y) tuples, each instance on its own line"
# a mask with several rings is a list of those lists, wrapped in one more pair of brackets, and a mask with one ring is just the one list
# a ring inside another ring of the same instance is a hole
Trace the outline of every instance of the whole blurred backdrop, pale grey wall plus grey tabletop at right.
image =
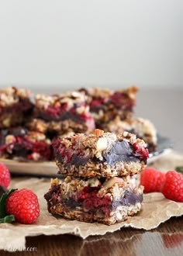
[(1, 2), (0, 87), (140, 88), (136, 115), (183, 151), (183, 2)]

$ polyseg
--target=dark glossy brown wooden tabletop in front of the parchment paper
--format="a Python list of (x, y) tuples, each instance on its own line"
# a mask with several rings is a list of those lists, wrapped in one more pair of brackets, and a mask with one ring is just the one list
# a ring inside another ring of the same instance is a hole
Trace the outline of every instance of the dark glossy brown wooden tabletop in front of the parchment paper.
[(82, 240), (72, 235), (27, 237), (26, 248), (35, 251), (0, 251), (0, 255), (50, 256), (168, 256), (183, 254), (183, 216), (171, 218), (150, 231), (123, 228), (113, 234)]

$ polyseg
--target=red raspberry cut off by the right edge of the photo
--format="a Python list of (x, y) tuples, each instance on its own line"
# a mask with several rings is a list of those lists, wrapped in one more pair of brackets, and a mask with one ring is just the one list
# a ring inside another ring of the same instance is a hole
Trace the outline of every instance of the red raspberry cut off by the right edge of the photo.
[(161, 192), (167, 199), (183, 202), (183, 175), (177, 171), (167, 171)]

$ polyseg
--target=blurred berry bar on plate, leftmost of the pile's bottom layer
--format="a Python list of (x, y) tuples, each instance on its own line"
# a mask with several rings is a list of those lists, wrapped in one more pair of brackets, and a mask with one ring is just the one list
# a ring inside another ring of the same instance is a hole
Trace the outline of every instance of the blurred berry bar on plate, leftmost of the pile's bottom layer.
[(51, 142), (43, 133), (22, 127), (0, 130), (0, 157), (46, 161), (53, 157)]

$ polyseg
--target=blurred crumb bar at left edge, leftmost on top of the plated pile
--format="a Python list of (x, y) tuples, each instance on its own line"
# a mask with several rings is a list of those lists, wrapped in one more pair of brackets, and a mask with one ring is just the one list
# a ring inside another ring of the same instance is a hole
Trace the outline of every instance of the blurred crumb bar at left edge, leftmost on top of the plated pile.
[(33, 111), (30, 93), (16, 87), (0, 89), (0, 128), (22, 125)]

